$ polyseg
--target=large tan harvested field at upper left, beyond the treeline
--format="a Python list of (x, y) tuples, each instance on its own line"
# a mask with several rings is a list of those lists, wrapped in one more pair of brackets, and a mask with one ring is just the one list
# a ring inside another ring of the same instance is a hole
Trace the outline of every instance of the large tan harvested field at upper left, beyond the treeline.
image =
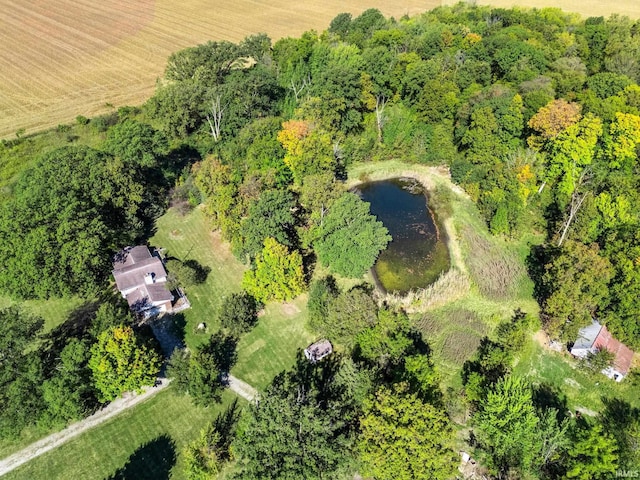
[(415, 15), (440, 0), (0, 0), (0, 138), (136, 105), (172, 52), (207, 40), (272, 39), (338, 13)]

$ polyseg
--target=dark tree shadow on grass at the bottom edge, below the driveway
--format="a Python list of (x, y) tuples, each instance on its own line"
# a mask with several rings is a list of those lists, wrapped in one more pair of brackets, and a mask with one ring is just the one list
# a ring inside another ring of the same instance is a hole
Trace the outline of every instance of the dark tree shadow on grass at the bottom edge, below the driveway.
[(168, 435), (161, 435), (133, 452), (124, 466), (106, 480), (168, 480), (176, 458), (175, 442)]

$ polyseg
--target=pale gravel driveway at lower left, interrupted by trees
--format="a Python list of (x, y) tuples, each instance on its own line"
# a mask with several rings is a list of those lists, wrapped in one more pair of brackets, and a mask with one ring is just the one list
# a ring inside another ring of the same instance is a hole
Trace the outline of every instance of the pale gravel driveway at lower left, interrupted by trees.
[[(0, 460), (0, 476), (15, 470), (19, 466), (39, 457), (43, 453), (47, 453), (60, 445), (68, 442), (69, 440), (77, 437), (81, 433), (87, 430), (97, 427), (98, 425), (112, 419), (120, 413), (136, 406), (139, 403), (151, 398), (156, 393), (160, 392), (169, 385), (171, 380), (167, 378), (159, 378), (159, 385), (157, 387), (146, 387), (140, 394), (126, 393), (123, 397), (114, 400), (102, 410), (97, 411), (90, 417), (85, 418), (73, 425), (68, 426), (64, 430), (53, 433), (48, 437), (38, 440), (32, 443), (28, 447), (20, 450), (19, 452), (10, 455), (7, 458)], [(258, 395), (258, 391), (246, 382), (234, 377), (228, 376), (229, 390), (233, 391), (242, 398), (253, 401)]]

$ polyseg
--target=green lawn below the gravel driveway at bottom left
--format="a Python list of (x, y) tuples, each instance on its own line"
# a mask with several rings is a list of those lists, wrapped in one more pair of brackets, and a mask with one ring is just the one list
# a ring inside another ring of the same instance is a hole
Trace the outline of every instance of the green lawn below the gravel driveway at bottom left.
[(4, 478), (102, 480), (127, 462), (122, 478), (185, 478), (182, 448), (234, 398), (225, 392), (222, 404), (204, 409), (169, 387)]

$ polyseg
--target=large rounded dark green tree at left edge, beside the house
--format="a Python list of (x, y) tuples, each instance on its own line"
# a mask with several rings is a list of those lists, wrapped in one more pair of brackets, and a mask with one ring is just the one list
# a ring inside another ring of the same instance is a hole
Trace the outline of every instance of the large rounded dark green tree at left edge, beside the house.
[(0, 206), (0, 289), (16, 297), (89, 295), (110, 255), (141, 233), (144, 187), (87, 147), (65, 147), (24, 172)]

